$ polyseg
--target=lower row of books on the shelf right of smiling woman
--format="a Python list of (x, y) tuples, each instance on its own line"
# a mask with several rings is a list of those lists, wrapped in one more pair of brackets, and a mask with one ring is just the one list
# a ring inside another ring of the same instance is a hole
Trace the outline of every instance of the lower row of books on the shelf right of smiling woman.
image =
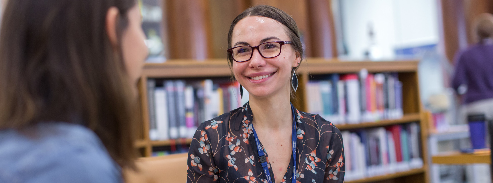
[(343, 131), (346, 180), (423, 167), (417, 123)]

